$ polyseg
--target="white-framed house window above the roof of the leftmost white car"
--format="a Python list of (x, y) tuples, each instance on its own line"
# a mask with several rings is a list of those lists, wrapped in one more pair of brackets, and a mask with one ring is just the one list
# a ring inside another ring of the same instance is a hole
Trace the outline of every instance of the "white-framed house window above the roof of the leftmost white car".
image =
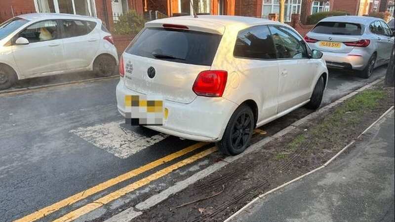
[(34, 0), (38, 13), (55, 12), (96, 16), (95, 0)]

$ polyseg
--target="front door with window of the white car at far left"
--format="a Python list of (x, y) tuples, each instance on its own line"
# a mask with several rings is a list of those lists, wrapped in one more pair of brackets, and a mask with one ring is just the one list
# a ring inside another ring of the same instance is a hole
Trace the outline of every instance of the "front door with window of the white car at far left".
[[(13, 45), (12, 53), (23, 76), (48, 74), (65, 69), (62, 39), (56, 20), (35, 23), (18, 37), (29, 40), (27, 45)], [(18, 38), (16, 37), (16, 38)]]

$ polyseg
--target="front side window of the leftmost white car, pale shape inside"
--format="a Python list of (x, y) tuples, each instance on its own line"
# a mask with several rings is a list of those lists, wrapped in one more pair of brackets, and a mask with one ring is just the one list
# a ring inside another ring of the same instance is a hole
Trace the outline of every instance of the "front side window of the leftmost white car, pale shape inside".
[(26, 28), (19, 36), (27, 38), (30, 43), (53, 40), (58, 38), (58, 24), (54, 20), (38, 22)]

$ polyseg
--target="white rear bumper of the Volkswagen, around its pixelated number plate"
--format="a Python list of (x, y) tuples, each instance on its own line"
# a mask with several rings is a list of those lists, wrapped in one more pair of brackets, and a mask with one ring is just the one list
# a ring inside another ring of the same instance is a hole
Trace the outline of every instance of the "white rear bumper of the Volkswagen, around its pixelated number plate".
[[(125, 95), (141, 95), (125, 87), (123, 79), (117, 85), (118, 111), (125, 116)], [(189, 104), (164, 101), (168, 118), (162, 126), (147, 128), (189, 140), (216, 142), (222, 139), (225, 128), (237, 104), (224, 98), (198, 96)]]

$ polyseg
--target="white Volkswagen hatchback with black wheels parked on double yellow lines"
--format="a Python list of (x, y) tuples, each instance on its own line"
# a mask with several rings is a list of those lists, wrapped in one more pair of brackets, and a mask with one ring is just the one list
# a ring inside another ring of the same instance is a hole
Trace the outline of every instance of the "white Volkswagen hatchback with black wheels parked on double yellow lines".
[(148, 22), (120, 59), (118, 110), (126, 95), (160, 95), (162, 126), (180, 138), (247, 148), (253, 129), (307, 105), (328, 79), (322, 53), (290, 26), (258, 18), (191, 16)]

